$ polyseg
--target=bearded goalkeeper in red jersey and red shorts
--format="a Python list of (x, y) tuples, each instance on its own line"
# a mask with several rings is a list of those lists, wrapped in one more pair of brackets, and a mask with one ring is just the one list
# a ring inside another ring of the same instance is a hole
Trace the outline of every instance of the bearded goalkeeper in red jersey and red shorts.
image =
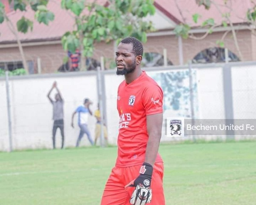
[(163, 160), (158, 154), (163, 123), (163, 91), (142, 71), (143, 46), (128, 37), (116, 51), (119, 85), (118, 156), (101, 205), (165, 205)]

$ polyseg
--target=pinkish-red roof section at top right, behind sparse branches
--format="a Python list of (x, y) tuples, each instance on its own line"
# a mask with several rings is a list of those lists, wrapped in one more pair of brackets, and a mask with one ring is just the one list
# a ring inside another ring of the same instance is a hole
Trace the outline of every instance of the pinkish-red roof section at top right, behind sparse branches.
[[(222, 17), (224, 13), (230, 13), (232, 23), (244, 23), (247, 10), (256, 5), (256, 0), (227, 0), (226, 5), (224, 0), (214, 0), (213, 2), (215, 4), (212, 4), (209, 10), (206, 10), (204, 6), (198, 6), (195, 0), (155, 0), (155, 5), (156, 7), (161, 6), (167, 15), (172, 14), (175, 17), (172, 19), (174, 22), (185, 23), (185, 20), (191, 26), (200, 26), (208, 18), (214, 18), (215, 23), (221, 25), (222, 20), (225, 20)], [(201, 15), (198, 23), (194, 23), (192, 20), (192, 15), (196, 13)]]

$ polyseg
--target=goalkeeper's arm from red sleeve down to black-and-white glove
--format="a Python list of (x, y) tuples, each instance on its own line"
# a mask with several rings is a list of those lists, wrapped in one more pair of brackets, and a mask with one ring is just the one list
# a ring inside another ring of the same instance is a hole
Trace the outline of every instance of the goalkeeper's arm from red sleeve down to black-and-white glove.
[(158, 148), (162, 135), (163, 124), (163, 91), (160, 87), (152, 87), (145, 91), (142, 98), (146, 112), (148, 141), (145, 161), (140, 167), (139, 176), (127, 187), (135, 187), (130, 203), (145, 205), (152, 199), (151, 179), (154, 162), (157, 158)]

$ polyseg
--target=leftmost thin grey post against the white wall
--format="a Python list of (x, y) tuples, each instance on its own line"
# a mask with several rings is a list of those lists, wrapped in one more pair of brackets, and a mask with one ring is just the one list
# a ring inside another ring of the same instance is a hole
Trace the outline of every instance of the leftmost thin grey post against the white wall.
[(5, 64), (6, 70), (6, 98), (7, 98), (7, 112), (8, 112), (8, 129), (9, 129), (9, 151), (12, 152), (12, 119), (10, 106), (10, 92), (9, 92), (9, 71)]

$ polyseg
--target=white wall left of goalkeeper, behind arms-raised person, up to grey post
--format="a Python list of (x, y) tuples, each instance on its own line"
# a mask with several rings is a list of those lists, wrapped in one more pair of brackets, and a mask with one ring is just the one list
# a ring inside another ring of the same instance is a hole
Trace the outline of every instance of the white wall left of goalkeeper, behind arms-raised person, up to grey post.
[[(65, 146), (73, 147), (79, 135), (77, 115), (75, 116), (75, 129), (71, 127), (71, 115), (84, 98), (90, 98), (94, 104), (91, 109), (97, 107), (96, 75), (81, 75), (59, 77), (50, 75), (49, 78), (25, 78), (11, 79), (10, 101), (12, 114), (12, 141), (13, 149), (33, 149), (52, 147), (52, 104), (47, 98), (52, 83), (57, 81), (58, 88), (64, 98), (64, 132)], [(6, 106), (5, 81), (0, 81), (1, 101), (0, 108), (3, 115), (0, 118), (0, 150), (8, 150), (8, 118)], [(3, 95), (2, 95), (3, 93)], [(56, 91), (52, 92), (54, 99)], [(94, 134), (96, 119), (89, 117), (91, 134)], [(2, 127), (3, 126), (3, 127)], [(81, 141), (82, 145), (88, 145), (87, 137)], [(56, 133), (56, 146), (61, 146), (60, 131)]]

